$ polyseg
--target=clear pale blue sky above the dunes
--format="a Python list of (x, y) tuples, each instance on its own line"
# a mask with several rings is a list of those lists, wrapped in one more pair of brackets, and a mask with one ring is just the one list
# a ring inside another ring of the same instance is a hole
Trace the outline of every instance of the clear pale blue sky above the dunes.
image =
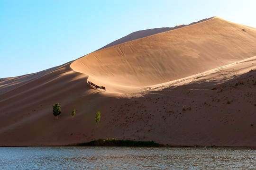
[(256, 0), (0, 0), (0, 78), (62, 65), (132, 32), (218, 16), (256, 27)]

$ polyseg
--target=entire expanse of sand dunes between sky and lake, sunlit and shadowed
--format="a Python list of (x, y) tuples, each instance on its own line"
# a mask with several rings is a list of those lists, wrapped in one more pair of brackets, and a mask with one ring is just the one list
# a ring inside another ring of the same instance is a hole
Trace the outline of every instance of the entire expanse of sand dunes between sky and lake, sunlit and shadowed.
[(0, 146), (116, 138), (256, 147), (255, 109), (256, 28), (211, 17), (135, 32), (48, 71), (1, 79)]

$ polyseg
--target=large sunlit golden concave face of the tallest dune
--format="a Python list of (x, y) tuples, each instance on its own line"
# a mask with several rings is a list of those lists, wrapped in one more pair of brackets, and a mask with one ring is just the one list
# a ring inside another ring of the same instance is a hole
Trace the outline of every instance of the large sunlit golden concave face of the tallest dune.
[(92, 52), (71, 68), (105, 83), (147, 86), (255, 56), (255, 47), (255, 28), (213, 17)]

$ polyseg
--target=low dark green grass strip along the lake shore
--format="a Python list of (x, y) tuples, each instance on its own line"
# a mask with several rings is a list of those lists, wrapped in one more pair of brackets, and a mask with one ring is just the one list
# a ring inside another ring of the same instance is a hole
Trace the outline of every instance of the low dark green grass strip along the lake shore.
[(154, 141), (132, 141), (132, 140), (116, 140), (112, 139), (98, 139), (91, 142), (70, 144), (69, 146), (162, 146), (162, 144)]

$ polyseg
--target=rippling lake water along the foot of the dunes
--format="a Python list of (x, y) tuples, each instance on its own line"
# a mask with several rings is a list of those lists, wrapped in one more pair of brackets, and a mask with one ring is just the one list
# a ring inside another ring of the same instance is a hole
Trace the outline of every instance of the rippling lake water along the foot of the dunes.
[(0, 170), (256, 170), (256, 149), (0, 147)]

